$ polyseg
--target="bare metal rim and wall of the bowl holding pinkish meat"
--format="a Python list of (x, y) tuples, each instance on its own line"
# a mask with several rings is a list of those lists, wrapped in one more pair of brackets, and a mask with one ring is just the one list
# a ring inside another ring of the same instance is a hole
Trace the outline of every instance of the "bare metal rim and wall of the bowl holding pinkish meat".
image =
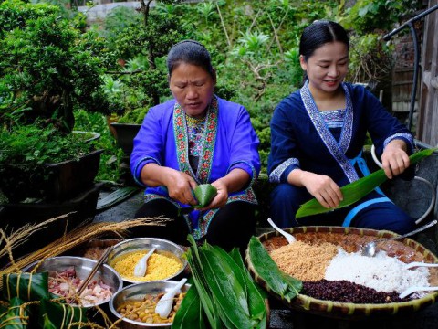
[[(65, 271), (72, 266), (75, 268), (76, 275), (80, 279), (85, 279), (89, 272), (96, 264), (97, 260), (90, 260), (84, 257), (75, 257), (75, 256), (58, 256), (49, 258), (43, 261), (35, 261), (32, 264), (28, 265), (23, 271), (30, 272), (36, 268), (36, 272), (43, 271)], [(36, 265), (39, 264), (37, 267)], [(121, 280), (120, 274), (115, 271), (110, 265), (102, 264), (96, 274), (93, 276), (92, 280), (101, 280), (105, 284), (109, 285), (111, 291), (114, 293), (119, 292), (123, 287), (123, 281)], [(110, 299), (96, 303), (89, 307), (99, 306), (109, 302)]]

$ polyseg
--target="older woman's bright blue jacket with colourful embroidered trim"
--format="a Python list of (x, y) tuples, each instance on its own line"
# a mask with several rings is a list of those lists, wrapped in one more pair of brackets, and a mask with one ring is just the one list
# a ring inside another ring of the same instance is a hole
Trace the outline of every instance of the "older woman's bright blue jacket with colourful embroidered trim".
[[(251, 187), (260, 172), (259, 140), (251, 125), (249, 113), (242, 105), (214, 97), (207, 110), (203, 133), (203, 147), (197, 170), (189, 163), (189, 143), (186, 116), (175, 101), (166, 101), (152, 107), (146, 115), (139, 133), (134, 138), (130, 155), (130, 169), (141, 186), (141, 169), (155, 163), (191, 175), (198, 184), (212, 183), (231, 170), (240, 168), (251, 176), (243, 190), (230, 194), (228, 202), (236, 200), (256, 204)], [(178, 207), (187, 207), (172, 200), (163, 186), (145, 186), (145, 202), (166, 198)], [(201, 238), (217, 209), (203, 213), (193, 210), (186, 216), (195, 238)]]

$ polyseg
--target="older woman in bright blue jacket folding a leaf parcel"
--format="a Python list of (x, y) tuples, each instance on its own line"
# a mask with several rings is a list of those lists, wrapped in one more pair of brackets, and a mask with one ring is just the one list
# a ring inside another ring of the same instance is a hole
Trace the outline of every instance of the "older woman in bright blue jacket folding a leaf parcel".
[[(255, 195), (260, 171), (258, 138), (242, 105), (214, 95), (216, 74), (200, 43), (184, 40), (167, 58), (173, 99), (152, 107), (134, 139), (130, 168), (146, 187), (136, 218), (172, 218), (165, 227), (144, 227), (136, 235), (185, 244), (187, 234), (224, 249), (245, 248), (255, 231)], [(180, 215), (197, 204), (193, 189), (217, 188), (208, 207)]]

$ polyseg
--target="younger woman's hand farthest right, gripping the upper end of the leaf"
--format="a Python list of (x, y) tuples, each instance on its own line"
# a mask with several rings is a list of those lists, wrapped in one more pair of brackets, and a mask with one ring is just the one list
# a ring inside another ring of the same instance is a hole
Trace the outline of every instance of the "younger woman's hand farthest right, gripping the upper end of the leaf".
[(410, 165), (406, 143), (401, 140), (392, 140), (388, 143), (381, 154), (381, 164), (385, 175), (390, 179), (404, 172)]

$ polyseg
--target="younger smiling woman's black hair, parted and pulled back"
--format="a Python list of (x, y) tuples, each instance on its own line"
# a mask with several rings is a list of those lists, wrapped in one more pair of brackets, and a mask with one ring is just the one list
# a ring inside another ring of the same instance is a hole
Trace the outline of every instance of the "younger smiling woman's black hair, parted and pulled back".
[(344, 27), (328, 20), (318, 20), (306, 27), (299, 40), (299, 55), (308, 60), (315, 50), (328, 42), (342, 42), (349, 49), (349, 36)]

